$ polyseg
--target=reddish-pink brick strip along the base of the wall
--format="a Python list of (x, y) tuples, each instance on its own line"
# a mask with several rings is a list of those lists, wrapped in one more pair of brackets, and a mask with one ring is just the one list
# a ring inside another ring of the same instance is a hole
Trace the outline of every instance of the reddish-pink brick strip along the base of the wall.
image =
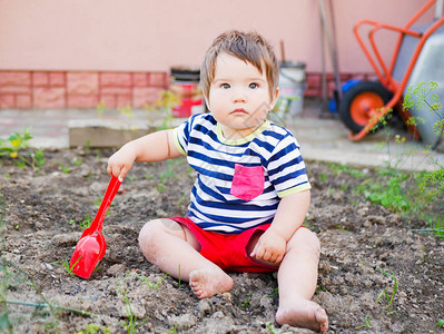
[[(371, 73), (342, 73), (341, 81), (369, 79)], [(306, 97), (322, 97), (322, 73), (306, 73)], [(327, 94), (335, 89), (333, 73), (326, 75)], [(0, 70), (0, 109), (144, 108), (168, 89), (164, 71), (16, 71)]]

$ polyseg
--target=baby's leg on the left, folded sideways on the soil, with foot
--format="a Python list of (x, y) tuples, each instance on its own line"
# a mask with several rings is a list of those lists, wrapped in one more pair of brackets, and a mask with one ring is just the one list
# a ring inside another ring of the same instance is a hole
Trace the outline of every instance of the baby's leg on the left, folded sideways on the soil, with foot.
[[(199, 243), (188, 227), (171, 219), (147, 223), (139, 234), (145, 257), (165, 273), (188, 281), (199, 298), (231, 289), (233, 279), (213, 262), (201, 256)], [(180, 269), (179, 269), (180, 266)]]

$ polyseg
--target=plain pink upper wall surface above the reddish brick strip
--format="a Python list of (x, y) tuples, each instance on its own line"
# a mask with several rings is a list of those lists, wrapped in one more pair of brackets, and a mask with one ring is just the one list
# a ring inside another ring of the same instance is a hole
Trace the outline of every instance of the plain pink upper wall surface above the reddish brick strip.
[[(353, 26), (362, 19), (403, 26), (426, 1), (333, 2), (339, 69), (366, 72), (372, 68), (353, 36)], [(283, 40), (287, 59), (306, 62), (307, 71), (320, 71), (316, 0), (0, 0), (0, 70), (196, 67), (211, 40), (230, 28), (265, 35), (279, 57)], [(391, 38), (381, 43), (386, 58), (392, 45)]]

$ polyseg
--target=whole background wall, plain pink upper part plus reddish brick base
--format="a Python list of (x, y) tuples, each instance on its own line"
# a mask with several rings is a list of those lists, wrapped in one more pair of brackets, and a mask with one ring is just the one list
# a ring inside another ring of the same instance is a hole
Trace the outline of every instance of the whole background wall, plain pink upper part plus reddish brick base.
[[(353, 27), (363, 19), (403, 27), (426, 0), (332, 2), (344, 82), (373, 75)], [(0, 0), (0, 109), (142, 108), (168, 88), (171, 67), (198, 67), (227, 29), (263, 33), (280, 59), (283, 41), (286, 60), (307, 65), (305, 96), (322, 96), (317, 0)], [(397, 35), (377, 37), (388, 61)]]

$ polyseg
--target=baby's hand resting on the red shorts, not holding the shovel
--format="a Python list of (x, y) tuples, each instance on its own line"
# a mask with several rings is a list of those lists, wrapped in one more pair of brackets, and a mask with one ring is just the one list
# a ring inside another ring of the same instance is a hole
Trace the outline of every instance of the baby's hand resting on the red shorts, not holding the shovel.
[(285, 238), (268, 228), (257, 240), (250, 256), (277, 266), (284, 258), (286, 247)]

